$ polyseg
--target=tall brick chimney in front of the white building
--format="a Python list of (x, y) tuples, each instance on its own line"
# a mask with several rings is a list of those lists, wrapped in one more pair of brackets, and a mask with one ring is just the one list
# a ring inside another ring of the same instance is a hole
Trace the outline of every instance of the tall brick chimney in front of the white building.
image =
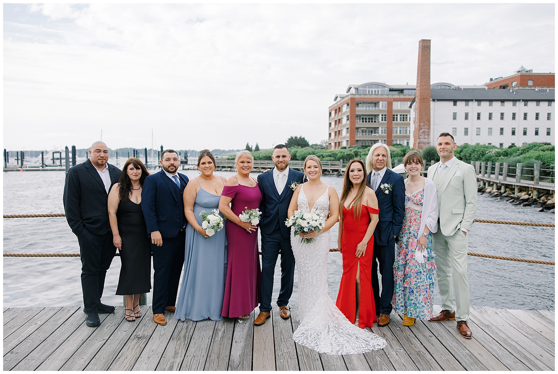
[(425, 149), (430, 145), (430, 39), (419, 41), (413, 135), (415, 149)]

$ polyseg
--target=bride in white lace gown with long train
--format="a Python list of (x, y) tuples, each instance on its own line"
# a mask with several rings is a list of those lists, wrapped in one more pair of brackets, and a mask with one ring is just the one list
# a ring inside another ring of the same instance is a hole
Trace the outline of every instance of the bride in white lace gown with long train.
[[(308, 182), (297, 186), (288, 215), (295, 210), (330, 215), (324, 229), (291, 236), (299, 274), (299, 328), (292, 338), (302, 346), (327, 354), (357, 354), (382, 349), (383, 338), (354, 326), (335, 306), (328, 295), (328, 254), (331, 240), (329, 229), (339, 217), (339, 196), (335, 188), (320, 181), (321, 163), (316, 156), (309, 156), (304, 163)], [(292, 229), (294, 232), (294, 229)], [(310, 244), (301, 238), (313, 238)]]

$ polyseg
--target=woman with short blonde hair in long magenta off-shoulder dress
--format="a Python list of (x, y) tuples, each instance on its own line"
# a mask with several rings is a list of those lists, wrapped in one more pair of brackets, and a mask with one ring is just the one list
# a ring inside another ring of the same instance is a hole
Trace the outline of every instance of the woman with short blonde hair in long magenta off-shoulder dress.
[(219, 201), (219, 211), (227, 217), (228, 245), (223, 317), (247, 319), (259, 303), (258, 227), (238, 217), (262, 201), (258, 182), (250, 176), (253, 161), (247, 150), (237, 153), (237, 173), (228, 179)]

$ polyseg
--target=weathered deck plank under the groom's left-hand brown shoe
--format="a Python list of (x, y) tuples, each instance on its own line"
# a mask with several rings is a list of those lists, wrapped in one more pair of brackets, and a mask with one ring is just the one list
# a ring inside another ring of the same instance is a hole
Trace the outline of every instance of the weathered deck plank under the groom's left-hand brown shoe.
[[(254, 315), (259, 314), (259, 308)], [(268, 318), (262, 326), (254, 325), (254, 348), (252, 353), (253, 371), (275, 371), (275, 342), (273, 341), (273, 318)]]

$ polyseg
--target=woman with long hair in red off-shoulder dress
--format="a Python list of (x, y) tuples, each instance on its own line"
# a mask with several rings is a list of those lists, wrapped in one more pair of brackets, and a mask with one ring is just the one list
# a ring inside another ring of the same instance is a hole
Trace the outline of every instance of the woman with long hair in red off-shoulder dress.
[(354, 159), (346, 170), (338, 236), (338, 247), (343, 254), (343, 276), (336, 305), (358, 327), (372, 327), (376, 322), (371, 275), (378, 200), (372, 188), (366, 186), (366, 168), (362, 161)]

